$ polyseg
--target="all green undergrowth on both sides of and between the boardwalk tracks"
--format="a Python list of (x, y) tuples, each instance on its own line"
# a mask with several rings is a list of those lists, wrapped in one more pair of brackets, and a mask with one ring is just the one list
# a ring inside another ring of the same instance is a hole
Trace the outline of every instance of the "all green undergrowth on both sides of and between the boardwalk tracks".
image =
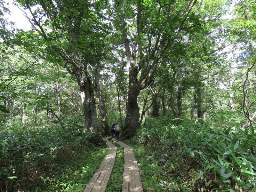
[[(157, 120), (132, 140), (144, 191), (254, 191), (255, 130), (206, 122), (180, 126)], [(54, 131), (53, 131), (54, 130)], [(108, 147), (96, 133), (56, 127), (1, 133), (1, 191), (81, 191)], [(121, 190), (124, 150), (117, 146), (107, 191)]]

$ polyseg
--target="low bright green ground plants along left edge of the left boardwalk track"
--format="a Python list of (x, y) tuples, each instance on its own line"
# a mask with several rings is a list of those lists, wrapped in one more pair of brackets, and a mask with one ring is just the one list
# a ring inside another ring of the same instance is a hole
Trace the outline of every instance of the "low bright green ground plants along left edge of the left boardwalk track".
[(83, 191), (103, 161), (108, 147), (94, 148), (92, 151), (81, 151), (73, 158), (57, 162), (51, 176), (46, 181), (47, 190), (36, 188), (34, 191), (74, 192)]

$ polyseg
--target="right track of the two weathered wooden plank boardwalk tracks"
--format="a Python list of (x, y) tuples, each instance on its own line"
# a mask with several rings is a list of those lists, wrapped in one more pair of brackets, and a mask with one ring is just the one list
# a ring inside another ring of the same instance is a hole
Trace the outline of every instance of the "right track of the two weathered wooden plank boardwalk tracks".
[(124, 178), (122, 192), (143, 192), (138, 163), (132, 148), (120, 141), (116, 142), (124, 148)]

